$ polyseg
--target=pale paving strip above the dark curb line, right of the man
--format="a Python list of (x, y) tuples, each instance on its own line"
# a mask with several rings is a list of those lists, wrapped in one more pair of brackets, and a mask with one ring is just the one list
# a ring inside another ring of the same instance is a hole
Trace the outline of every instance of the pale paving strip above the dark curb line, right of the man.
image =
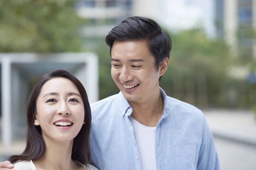
[(204, 111), (213, 135), (256, 147), (256, 118), (252, 111)]

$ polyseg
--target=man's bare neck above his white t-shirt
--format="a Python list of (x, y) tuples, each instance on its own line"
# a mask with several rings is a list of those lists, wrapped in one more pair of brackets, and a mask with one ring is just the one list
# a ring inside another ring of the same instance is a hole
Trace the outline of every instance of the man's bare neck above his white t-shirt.
[(163, 114), (163, 96), (159, 88), (145, 101), (129, 102), (133, 108), (131, 116), (145, 126), (155, 127)]

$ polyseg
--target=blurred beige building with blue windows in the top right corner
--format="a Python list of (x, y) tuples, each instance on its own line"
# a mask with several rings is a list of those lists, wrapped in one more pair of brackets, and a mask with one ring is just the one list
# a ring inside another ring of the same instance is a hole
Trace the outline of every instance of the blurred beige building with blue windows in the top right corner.
[(256, 58), (256, 0), (215, 0), (215, 6), (217, 36), (231, 45), (234, 55)]

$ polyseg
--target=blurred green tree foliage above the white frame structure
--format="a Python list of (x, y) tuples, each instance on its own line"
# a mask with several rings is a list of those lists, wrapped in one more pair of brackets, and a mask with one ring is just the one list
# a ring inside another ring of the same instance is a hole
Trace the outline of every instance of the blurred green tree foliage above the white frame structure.
[(81, 51), (76, 0), (1, 0), (0, 52)]

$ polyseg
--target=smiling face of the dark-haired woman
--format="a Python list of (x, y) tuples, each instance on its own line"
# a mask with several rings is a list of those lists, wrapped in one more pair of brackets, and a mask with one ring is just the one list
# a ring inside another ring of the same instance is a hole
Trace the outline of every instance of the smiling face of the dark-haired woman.
[(69, 79), (47, 81), (36, 101), (35, 125), (42, 136), (55, 141), (73, 140), (84, 123), (84, 104), (76, 85)]

